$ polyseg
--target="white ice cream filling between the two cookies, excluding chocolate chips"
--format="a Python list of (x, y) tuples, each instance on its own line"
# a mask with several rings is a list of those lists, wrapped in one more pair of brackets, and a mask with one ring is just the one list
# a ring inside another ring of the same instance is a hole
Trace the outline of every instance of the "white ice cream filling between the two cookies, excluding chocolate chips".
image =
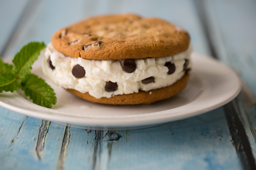
[[(179, 54), (159, 57), (134, 59), (136, 69), (132, 73), (127, 73), (122, 68), (124, 60), (87, 60), (66, 56), (53, 48), (49, 43), (45, 48), (43, 60), (43, 72), (56, 85), (60, 85), (66, 89), (75, 89), (79, 92), (89, 94), (97, 99), (101, 97), (110, 98), (118, 94), (137, 93), (139, 90), (149, 91), (167, 87), (175, 83), (183, 77), (183, 64), (185, 59), (190, 61), (192, 46)], [(52, 70), (47, 59), (51, 58)], [(166, 62), (172, 62), (176, 66), (173, 74), (168, 75), (168, 68), (164, 66)], [(79, 64), (84, 67), (85, 76), (83, 78), (75, 78), (72, 74), (72, 68)], [(191, 62), (188, 68), (191, 67)], [(155, 83), (143, 84), (141, 80), (149, 77), (155, 78)], [(107, 92), (105, 85), (108, 81), (116, 82), (118, 88), (114, 92)]]

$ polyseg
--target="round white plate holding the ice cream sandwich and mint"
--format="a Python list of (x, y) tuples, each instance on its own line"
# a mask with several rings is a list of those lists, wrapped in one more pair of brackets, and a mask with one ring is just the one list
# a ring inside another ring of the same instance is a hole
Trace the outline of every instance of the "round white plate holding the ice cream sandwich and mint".
[[(40, 56), (42, 59), (42, 56)], [(82, 100), (52, 84), (41, 71), (41, 60), (32, 72), (51, 85), (57, 103), (51, 109), (33, 104), (22, 91), (0, 94), (0, 106), (24, 115), (80, 129), (132, 130), (199, 115), (234, 99), (241, 89), (236, 73), (207, 56), (193, 53), (187, 87), (178, 95), (151, 105), (113, 106)]]

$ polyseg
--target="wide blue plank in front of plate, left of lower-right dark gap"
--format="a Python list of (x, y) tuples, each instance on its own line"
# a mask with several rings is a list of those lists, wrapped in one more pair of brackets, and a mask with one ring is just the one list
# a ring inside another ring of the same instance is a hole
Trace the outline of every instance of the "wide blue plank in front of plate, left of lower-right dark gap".
[(222, 108), (129, 131), (113, 143), (109, 169), (241, 169)]

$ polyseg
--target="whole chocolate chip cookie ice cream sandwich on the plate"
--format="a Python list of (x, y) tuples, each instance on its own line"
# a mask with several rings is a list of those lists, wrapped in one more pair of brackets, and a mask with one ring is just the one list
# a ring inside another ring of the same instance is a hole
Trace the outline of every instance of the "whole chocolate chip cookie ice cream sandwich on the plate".
[(97, 16), (53, 34), (43, 72), (88, 101), (150, 104), (185, 88), (191, 52), (188, 33), (164, 20)]

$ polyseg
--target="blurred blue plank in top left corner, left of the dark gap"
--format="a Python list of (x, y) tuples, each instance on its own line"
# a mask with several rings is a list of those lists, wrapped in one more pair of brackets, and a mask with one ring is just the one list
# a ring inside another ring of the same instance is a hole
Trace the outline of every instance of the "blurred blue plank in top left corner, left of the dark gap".
[(20, 18), (24, 12), (24, 9), (28, 3), (28, 0), (4, 0), (0, 5), (0, 56), (4, 55), (4, 48), (7, 47), (8, 41), (12, 38), (12, 34), (15, 33)]

